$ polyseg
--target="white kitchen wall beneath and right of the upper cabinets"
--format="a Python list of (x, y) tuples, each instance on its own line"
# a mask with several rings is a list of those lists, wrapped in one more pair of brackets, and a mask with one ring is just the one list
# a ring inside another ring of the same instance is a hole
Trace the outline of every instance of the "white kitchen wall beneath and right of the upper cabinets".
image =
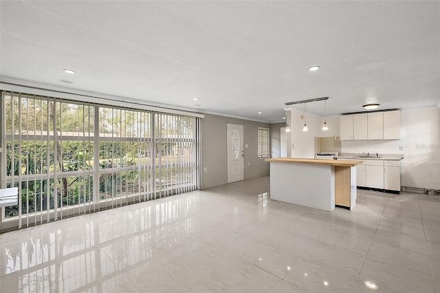
[(401, 140), (342, 141), (342, 153), (393, 153), (401, 161), (401, 185), (440, 189), (440, 109), (401, 110)]

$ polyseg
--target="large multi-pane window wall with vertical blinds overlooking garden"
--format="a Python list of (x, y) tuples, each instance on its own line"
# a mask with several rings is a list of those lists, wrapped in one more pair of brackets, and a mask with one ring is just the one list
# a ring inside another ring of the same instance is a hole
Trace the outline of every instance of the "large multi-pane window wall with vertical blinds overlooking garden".
[(2, 92), (4, 187), (22, 225), (197, 189), (198, 118)]

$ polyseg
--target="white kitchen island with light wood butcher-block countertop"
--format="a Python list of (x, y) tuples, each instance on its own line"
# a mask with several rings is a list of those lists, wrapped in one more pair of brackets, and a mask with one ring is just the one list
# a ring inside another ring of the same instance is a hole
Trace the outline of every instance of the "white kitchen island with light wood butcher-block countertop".
[(354, 208), (356, 169), (361, 160), (272, 158), (270, 198), (290, 204), (331, 211)]

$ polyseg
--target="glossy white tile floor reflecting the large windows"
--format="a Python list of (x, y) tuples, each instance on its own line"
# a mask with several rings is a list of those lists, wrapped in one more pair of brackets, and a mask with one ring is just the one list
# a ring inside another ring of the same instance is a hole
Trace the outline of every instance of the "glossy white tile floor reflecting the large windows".
[(261, 177), (1, 234), (0, 292), (440, 293), (438, 195), (358, 190), (329, 213), (269, 190)]

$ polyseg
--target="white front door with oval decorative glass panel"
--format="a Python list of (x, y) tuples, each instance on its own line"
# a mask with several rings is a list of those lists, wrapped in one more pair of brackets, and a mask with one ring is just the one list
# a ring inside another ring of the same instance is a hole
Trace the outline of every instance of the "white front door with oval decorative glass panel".
[(227, 125), (228, 183), (244, 180), (243, 125)]

